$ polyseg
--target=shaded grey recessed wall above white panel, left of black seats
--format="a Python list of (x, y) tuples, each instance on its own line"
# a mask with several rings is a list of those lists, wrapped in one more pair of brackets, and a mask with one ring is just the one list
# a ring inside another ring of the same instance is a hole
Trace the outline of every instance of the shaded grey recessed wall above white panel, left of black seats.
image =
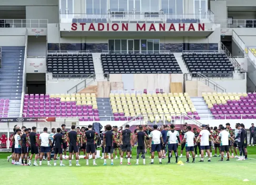
[(28, 37), (28, 56), (46, 56), (46, 36)]

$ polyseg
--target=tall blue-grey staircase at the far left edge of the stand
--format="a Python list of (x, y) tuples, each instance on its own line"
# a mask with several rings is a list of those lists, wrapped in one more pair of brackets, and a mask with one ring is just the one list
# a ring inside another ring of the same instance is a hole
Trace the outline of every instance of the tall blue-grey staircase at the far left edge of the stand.
[(9, 113), (20, 112), (24, 53), (25, 46), (1, 48), (0, 99), (10, 100)]

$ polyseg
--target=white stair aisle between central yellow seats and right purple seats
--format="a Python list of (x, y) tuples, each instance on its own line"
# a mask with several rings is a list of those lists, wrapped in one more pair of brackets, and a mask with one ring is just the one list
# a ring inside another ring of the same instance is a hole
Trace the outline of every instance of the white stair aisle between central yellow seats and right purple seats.
[(214, 116), (212, 115), (210, 109), (208, 108), (204, 98), (200, 97), (190, 97), (193, 102), (195, 109), (198, 112), (201, 120), (214, 120)]

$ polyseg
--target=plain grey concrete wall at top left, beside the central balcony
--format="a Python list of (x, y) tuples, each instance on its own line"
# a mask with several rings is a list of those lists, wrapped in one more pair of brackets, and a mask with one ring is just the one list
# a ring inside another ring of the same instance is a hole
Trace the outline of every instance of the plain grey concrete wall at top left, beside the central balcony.
[(59, 10), (56, 6), (26, 6), (26, 19), (48, 19), (48, 23), (59, 23)]

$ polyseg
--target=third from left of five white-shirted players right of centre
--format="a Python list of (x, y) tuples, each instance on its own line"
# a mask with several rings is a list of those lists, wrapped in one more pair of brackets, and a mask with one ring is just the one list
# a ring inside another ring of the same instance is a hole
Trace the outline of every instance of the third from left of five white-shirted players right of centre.
[(187, 161), (186, 163), (189, 163), (189, 152), (192, 153), (193, 161), (192, 163), (195, 162), (195, 152), (194, 152), (194, 145), (196, 142), (195, 134), (194, 132), (191, 132), (191, 127), (187, 126), (187, 132), (184, 134), (184, 138), (181, 141), (181, 144), (184, 143), (186, 140), (186, 157)]

